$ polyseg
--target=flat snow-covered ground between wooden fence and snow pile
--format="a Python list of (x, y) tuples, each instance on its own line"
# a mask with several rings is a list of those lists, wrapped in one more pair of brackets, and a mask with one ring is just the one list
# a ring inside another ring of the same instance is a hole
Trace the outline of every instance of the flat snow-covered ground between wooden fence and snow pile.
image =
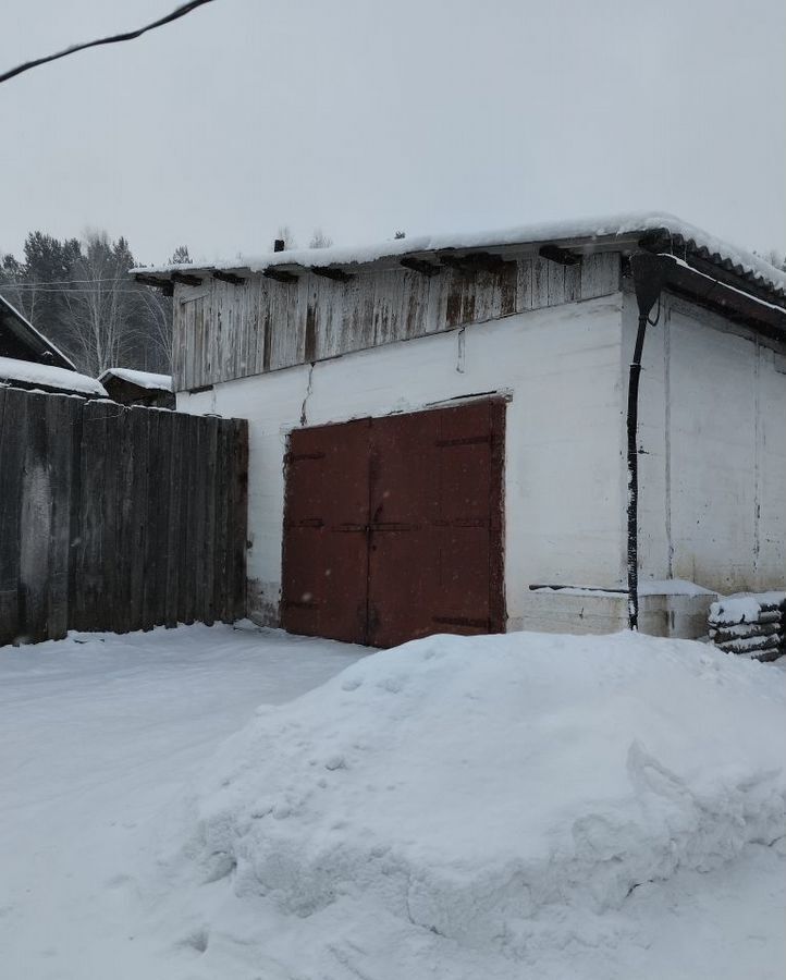
[(135, 934), (137, 828), (259, 703), (360, 652), (226, 626), (0, 648), (0, 977), (175, 976)]

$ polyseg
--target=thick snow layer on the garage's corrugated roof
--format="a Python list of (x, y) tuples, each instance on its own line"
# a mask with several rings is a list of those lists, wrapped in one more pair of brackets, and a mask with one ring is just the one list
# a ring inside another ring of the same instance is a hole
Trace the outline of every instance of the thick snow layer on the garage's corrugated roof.
[(496, 231), (464, 234), (422, 235), (396, 238), (356, 247), (304, 248), (291, 252), (242, 255), (226, 261), (193, 265), (165, 265), (134, 269), (134, 274), (150, 280), (165, 280), (171, 274), (195, 275), (210, 271), (265, 272), (275, 266), (324, 268), (352, 267), (388, 258), (402, 258), (447, 249), (493, 249), (514, 245), (569, 243), (584, 250), (612, 246), (625, 241), (654, 252), (667, 252), (680, 258), (702, 259), (734, 273), (751, 285), (786, 298), (786, 274), (747, 249), (739, 248), (689, 224), (674, 215), (659, 211), (631, 212), (605, 218), (516, 225)]

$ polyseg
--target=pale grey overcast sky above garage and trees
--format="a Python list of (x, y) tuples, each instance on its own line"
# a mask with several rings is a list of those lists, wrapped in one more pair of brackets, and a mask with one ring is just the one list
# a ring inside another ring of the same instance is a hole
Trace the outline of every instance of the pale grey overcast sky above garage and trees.
[[(5, 0), (0, 68), (177, 0)], [(217, 259), (667, 210), (786, 250), (783, 0), (214, 0), (0, 86), (0, 250)]]

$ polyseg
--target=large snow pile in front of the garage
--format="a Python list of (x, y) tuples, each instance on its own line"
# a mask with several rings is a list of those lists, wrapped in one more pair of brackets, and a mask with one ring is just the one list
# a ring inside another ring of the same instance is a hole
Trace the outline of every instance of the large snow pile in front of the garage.
[(167, 886), (206, 969), (213, 934), (277, 977), (551, 976), (639, 885), (784, 834), (783, 682), (631, 634), (374, 653), (225, 743)]

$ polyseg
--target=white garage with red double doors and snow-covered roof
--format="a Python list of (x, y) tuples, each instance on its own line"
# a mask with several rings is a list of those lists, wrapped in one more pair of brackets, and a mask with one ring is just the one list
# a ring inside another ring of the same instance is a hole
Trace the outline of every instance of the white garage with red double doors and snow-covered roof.
[(641, 252), (668, 274), (639, 394), (640, 626), (705, 632), (713, 596), (679, 580), (783, 588), (786, 278), (633, 215), (136, 270), (174, 294), (177, 408), (249, 419), (249, 615), (379, 646), (625, 626)]

